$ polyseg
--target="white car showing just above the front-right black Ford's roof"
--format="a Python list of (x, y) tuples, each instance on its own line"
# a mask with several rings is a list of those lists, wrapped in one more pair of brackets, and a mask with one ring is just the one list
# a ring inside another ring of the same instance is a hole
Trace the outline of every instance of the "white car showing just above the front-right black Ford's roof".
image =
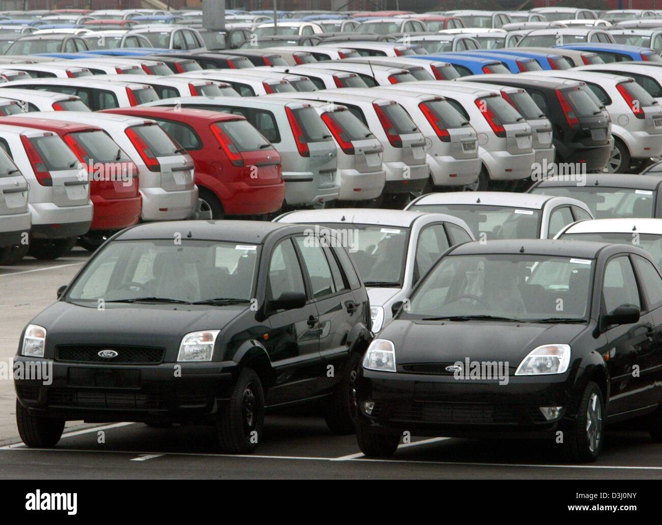
[(585, 203), (571, 197), (502, 191), (428, 193), (406, 209), (461, 218), (483, 242), (551, 239), (564, 226), (593, 218)]

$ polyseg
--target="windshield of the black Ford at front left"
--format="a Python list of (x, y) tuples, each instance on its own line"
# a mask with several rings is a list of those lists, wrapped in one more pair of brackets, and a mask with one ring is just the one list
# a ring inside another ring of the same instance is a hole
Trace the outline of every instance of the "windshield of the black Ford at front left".
[[(182, 239), (108, 244), (76, 279), (70, 301), (218, 304), (250, 301), (258, 247)], [(234, 300), (234, 301), (232, 301)]]

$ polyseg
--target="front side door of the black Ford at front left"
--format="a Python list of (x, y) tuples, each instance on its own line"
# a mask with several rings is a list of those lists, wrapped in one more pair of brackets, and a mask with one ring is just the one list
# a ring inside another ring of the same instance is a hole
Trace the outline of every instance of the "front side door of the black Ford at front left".
[(281, 240), (269, 260), (265, 300), (292, 292), (305, 293), (309, 300), (303, 308), (269, 315), (271, 330), (263, 344), (275, 371), (275, 384), (267, 391), (267, 406), (306, 399), (318, 391), (322, 374), (318, 316), (301, 264), (291, 238)]

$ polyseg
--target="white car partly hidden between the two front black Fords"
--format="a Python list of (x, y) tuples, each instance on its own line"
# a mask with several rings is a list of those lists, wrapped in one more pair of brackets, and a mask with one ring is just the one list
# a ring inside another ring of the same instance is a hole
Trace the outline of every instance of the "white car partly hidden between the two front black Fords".
[(274, 221), (340, 231), (365, 283), (375, 334), (393, 318), (393, 305), (408, 299), (450, 246), (474, 240), (463, 220), (440, 213), (332, 209), (285, 213)]

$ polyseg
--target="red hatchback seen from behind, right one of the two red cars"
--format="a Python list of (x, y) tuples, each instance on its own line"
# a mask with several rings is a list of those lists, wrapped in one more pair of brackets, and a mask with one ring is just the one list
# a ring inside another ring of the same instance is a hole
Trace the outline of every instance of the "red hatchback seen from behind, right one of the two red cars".
[(265, 215), (281, 209), (281, 156), (239, 115), (177, 107), (106, 109), (156, 120), (193, 158), (200, 199), (213, 218)]

